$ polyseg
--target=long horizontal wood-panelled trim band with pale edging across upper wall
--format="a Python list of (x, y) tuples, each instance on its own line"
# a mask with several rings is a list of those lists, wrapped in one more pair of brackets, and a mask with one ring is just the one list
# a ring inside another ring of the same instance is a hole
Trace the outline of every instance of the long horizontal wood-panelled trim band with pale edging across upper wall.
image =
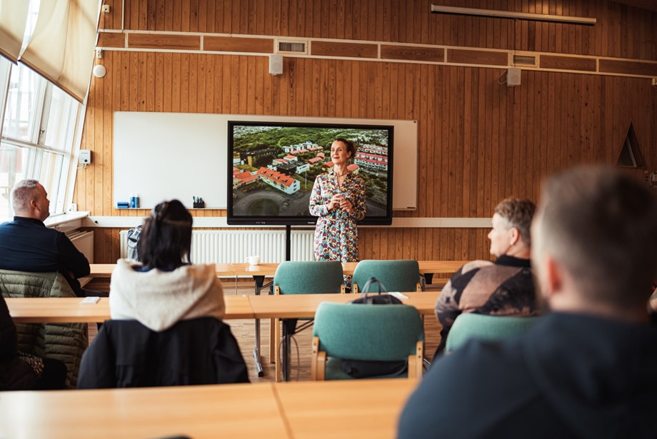
[[(244, 54), (268, 56), (276, 41), (286, 37), (261, 35), (199, 34), (158, 31), (99, 31), (96, 49), (114, 51), (155, 51), (201, 54)], [(296, 41), (296, 40), (295, 40)], [(294, 58), (361, 59), (413, 64), (444, 64), (491, 69), (511, 66), (512, 50), (454, 47), (428, 44), (390, 44), (385, 41), (306, 39), (307, 53), (285, 54)], [(657, 61), (618, 59), (532, 52), (538, 66), (521, 69), (558, 71), (604, 76), (657, 76)]]

